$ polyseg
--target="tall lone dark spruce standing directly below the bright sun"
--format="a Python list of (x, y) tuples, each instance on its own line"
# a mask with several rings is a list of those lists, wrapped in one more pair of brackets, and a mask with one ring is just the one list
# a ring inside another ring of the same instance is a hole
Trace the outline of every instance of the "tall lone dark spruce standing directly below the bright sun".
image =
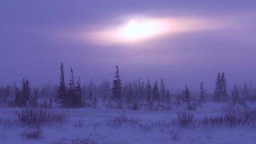
[(121, 91), (121, 80), (119, 77), (119, 69), (118, 66), (116, 66), (116, 75), (115, 80), (113, 80), (113, 87), (112, 87), (112, 100), (115, 102), (115, 108), (122, 108), (122, 91)]

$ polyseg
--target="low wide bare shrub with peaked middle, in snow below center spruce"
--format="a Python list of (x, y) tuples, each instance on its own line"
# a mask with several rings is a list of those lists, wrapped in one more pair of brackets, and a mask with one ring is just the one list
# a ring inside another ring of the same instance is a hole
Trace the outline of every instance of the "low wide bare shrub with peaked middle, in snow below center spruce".
[(135, 126), (138, 123), (137, 118), (128, 116), (126, 112), (123, 110), (119, 116), (114, 117), (113, 119), (106, 119), (106, 123), (111, 127), (120, 127), (122, 124), (128, 124), (130, 126)]

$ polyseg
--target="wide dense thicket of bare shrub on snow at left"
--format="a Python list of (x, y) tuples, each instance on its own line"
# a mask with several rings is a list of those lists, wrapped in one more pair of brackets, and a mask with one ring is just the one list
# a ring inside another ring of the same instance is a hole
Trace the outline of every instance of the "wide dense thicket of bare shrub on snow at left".
[(68, 117), (64, 112), (43, 108), (20, 108), (15, 110), (15, 116), (25, 126), (42, 126), (67, 123)]

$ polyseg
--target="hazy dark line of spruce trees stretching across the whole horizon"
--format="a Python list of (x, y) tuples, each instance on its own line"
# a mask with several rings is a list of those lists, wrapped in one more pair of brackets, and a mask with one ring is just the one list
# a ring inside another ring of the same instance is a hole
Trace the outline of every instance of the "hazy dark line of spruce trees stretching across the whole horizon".
[(99, 102), (106, 108), (128, 108), (145, 110), (168, 110), (171, 105), (179, 107), (185, 104), (189, 110), (195, 110), (202, 106), (205, 101), (231, 102), (244, 105), (245, 101), (256, 101), (256, 89), (252, 83), (244, 84), (238, 88), (235, 84), (230, 94), (227, 90), (225, 73), (217, 74), (214, 93), (205, 91), (203, 81), (199, 84), (199, 93), (191, 93), (188, 85), (182, 91), (166, 89), (165, 82), (161, 79), (154, 81), (151, 85), (148, 79), (146, 83), (140, 79), (123, 82), (120, 79), (120, 72), (116, 66), (116, 72), (112, 86), (110, 81), (102, 81), (96, 85), (91, 80), (88, 85), (81, 86), (80, 77), (74, 79), (73, 69), (70, 68), (69, 82), (65, 83), (64, 64), (60, 67), (60, 82), (51, 86), (48, 82), (39, 90), (31, 90), (28, 80), (23, 79), (21, 87), (13, 86), (0, 88), (0, 104), (5, 107), (26, 107), (26, 100), (29, 100), (31, 107), (52, 108), (53, 104), (59, 108), (97, 108)]

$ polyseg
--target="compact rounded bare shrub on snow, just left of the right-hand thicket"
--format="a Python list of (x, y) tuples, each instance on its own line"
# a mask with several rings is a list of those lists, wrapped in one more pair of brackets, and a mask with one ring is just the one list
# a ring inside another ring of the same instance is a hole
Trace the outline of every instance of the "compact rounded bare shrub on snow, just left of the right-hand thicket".
[(185, 127), (194, 122), (194, 115), (187, 113), (187, 112), (182, 112), (179, 113), (177, 112), (177, 118), (175, 121), (177, 122), (178, 126), (180, 127)]

